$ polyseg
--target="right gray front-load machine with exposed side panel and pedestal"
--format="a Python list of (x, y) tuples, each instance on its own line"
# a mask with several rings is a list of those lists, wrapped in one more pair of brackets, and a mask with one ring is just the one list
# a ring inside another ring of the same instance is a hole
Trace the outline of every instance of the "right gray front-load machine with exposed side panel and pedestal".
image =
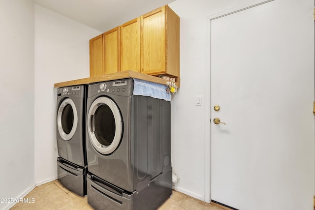
[(155, 209), (172, 194), (170, 102), (133, 95), (133, 82), (89, 85), (87, 188), (96, 210)]

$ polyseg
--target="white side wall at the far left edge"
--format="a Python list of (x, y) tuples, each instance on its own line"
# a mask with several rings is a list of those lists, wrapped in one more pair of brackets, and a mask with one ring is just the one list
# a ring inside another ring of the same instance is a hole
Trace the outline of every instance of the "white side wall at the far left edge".
[(34, 183), (33, 5), (0, 1), (0, 198), (20, 197)]

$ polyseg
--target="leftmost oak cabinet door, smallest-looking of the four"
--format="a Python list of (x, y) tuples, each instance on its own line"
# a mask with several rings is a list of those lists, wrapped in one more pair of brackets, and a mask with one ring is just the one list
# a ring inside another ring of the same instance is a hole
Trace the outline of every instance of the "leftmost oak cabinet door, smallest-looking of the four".
[(103, 75), (103, 34), (90, 39), (90, 77)]

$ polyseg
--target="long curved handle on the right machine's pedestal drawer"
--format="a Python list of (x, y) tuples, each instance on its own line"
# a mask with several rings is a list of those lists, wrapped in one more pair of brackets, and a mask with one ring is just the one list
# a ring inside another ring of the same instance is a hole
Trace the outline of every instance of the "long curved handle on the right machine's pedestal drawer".
[(115, 206), (118, 206), (119, 208), (124, 209), (127, 205), (129, 205), (132, 202), (133, 199), (128, 199), (128, 198), (125, 198), (124, 196), (117, 195), (117, 194), (109, 191), (108, 189), (100, 186), (99, 184), (97, 184), (92, 179), (90, 177), (87, 177), (87, 180), (88, 180), (88, 182), (90, 182), (89, 184), (91, 185), (91, 187), (95, 191), (100, 193), (101, 195), (107, 197), (108, 201), (110, 203), (114, 204)]

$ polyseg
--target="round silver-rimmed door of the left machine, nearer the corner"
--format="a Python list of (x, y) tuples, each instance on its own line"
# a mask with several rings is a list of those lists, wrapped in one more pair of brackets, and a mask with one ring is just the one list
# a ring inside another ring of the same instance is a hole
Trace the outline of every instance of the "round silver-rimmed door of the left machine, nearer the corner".
[(63, 100), (57, 113), (57, 127), (61, 138), (69, 141), (78, 125), (77, 109), (70, 98)]

